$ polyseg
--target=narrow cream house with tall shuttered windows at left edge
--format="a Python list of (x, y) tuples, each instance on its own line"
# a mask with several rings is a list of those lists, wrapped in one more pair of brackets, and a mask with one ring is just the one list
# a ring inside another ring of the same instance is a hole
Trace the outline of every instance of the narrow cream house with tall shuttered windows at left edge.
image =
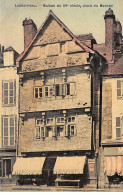
[(0, 183), (12, 182), (18, 130), (19, 76), (15, 61), (19, 54), (0, 46)]

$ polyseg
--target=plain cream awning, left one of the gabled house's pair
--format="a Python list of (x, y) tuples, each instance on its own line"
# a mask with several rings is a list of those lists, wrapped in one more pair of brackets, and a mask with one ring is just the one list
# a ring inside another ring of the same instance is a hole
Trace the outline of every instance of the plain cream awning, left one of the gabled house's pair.
[(13, 167), (13, 175), (39, 175), (42, 174), (42, 168), (45, 157), (23, 158), (17, 157)]

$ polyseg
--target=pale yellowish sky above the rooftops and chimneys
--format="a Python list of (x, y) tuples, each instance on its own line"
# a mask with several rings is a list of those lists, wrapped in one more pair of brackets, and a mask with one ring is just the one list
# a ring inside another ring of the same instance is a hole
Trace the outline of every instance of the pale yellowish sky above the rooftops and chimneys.
[(104, 43), (104, 14), (109, 5), (123, 25), (123, 0), (0, 0), (0, 44), (21, 53), (23, 20), (31, 18), (40, 28), (50, 9), (73, 34), (92, 33), (97, 43)]

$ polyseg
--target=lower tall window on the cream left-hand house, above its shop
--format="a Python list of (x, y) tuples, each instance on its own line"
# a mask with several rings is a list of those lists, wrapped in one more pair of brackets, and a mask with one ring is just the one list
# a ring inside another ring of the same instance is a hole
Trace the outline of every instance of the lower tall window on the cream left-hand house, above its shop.
[(16, 117), (3, 116), (2, 126), (3, 126), (3, 146), (15, 146)]

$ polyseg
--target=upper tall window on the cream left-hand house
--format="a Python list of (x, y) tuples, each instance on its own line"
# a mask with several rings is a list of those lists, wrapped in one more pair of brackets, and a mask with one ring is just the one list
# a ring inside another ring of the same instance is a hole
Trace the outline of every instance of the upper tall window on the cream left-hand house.
[(16, 80), (2, 82), (3, 105), (15, 104)]

